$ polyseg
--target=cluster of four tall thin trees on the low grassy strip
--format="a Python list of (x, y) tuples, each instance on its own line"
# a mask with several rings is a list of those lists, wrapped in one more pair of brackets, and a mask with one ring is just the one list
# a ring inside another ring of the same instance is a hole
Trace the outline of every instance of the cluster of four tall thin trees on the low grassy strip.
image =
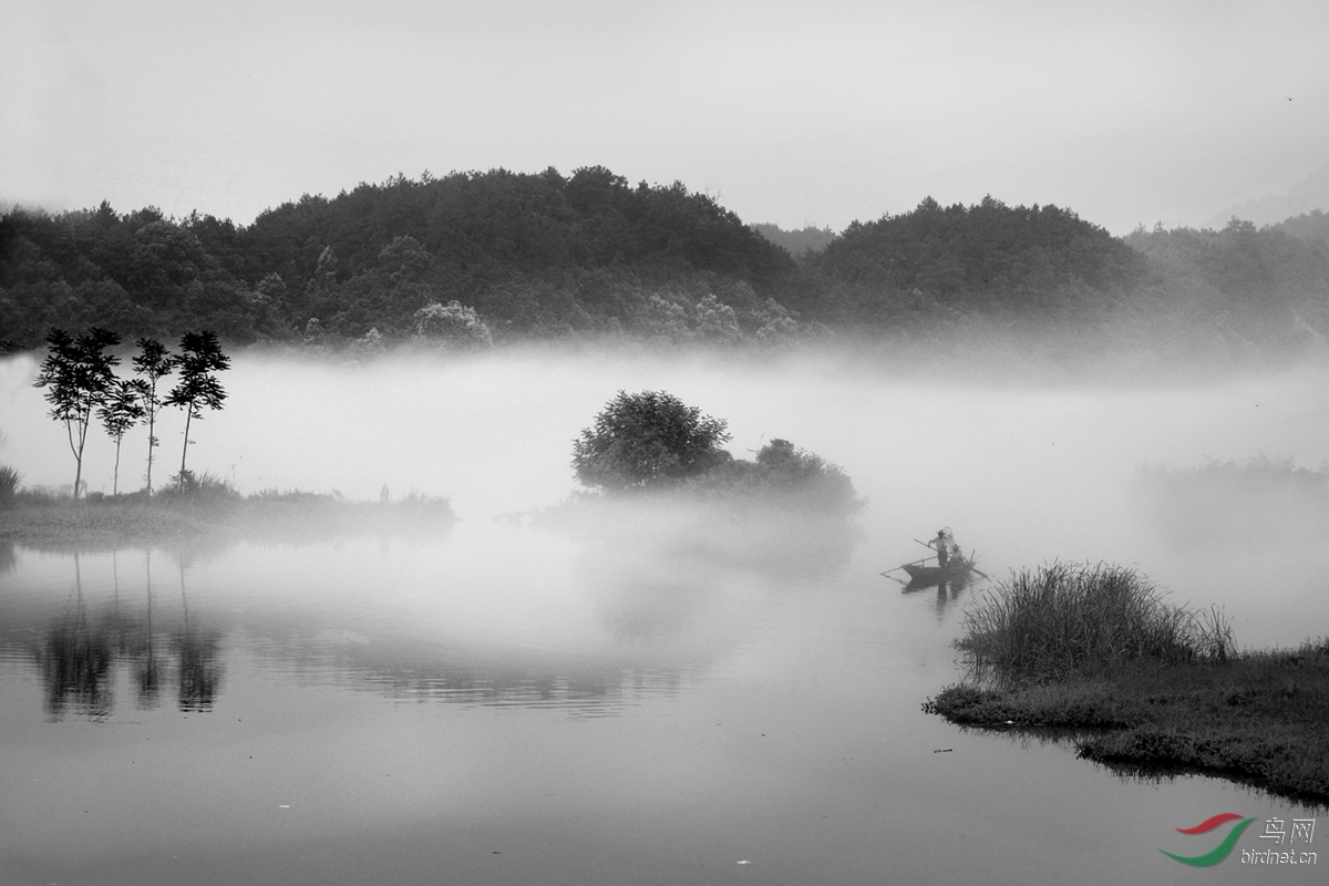
[[(230, 357), (222, 352), (215, 332), (186, 332), (179, 339), (179, 352), (173, 353), (157, 339), (138, 339), (138, 355), (133, 357), (134, 377), (116, 375), (120, 357), (113, 348), (120, 345), (120, 335), (104, 327), (92, 327), (80, 336), (52, 327), (47, 335), (47, 357), (41, 363), (33, 384), (45, 388), (43, 395), (51, 404), (51, 417), (65, 425), (69, 450), (74, 457), (73, 495), (77, 499), (82, 486), (84, 446), (94, 422), (101, 422), (116, 442), (116, 472), (112, 493), (120, 493), (120, 446), (125, 434), (137, 424), (148, 426), (146, 494), (153, 494), (153, 449), (157, 438), (157, 417), (165, 406), (185, 410), (185, 445), (179, 456), (179, 477), (183, 489), (190, 480), (186, 469), (189, 456), (190, 422), (203, 417), (203, 409), (221, 409), (226, 391), (217, 373), (230, 368)], [(178, 375), (175, 385), (162, 396), (162, 380)]]

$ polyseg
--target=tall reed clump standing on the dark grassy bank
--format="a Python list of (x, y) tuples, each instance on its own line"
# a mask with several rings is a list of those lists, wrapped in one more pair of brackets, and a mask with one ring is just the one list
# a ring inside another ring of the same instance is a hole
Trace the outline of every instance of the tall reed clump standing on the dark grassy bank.
[(1134, 569), (1053, 563), (1014, 573), (965, 612), (956, 642), (1003, 683), (1094, 673), (1123, 662), (1225, 660), (1232, 628), (1217, 608), (1163, 600)]

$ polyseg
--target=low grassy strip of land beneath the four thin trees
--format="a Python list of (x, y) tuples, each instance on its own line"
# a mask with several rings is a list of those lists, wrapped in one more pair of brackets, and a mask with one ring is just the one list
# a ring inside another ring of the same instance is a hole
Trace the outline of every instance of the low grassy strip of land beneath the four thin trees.
[(352, 502), (340, 495), (266, 490), (241, 495), (202, 477), (185, 489), (69, 498), (17, 493), (0, 507), (0, 539), (51, 546), (98, 546), (178, 538), (288, 539), (346, 531), (428, 530), (456, 518), (444, 498)]

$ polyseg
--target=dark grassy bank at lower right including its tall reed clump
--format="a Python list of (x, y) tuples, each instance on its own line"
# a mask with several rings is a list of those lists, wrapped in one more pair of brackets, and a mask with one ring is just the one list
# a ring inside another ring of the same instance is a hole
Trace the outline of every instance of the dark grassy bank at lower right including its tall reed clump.
[(1207, 773), (1329, 805), (1329, 640), (1236, 652), (1215, 611), (1116, 567), (1017, 574), (966, 612), (968, 681), (924, 705), (956, 724), (1053, 729), (1132, 773)]

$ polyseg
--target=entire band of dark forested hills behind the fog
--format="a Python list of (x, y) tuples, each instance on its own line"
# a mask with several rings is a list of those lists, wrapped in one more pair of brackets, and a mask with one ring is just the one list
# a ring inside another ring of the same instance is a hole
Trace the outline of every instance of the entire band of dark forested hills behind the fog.
[(1318, 347), (1329, 328), (1322, 221), (1115, 238), (1057, 206), (929, 198), (836, 236), (747, 226), (682, 183), (634, 187), (598, 166), (397, 175), (306, 195), (249, 226), (106, 203), (16, 207), (0, 217), (0, 340), (35, 348), (52, 327), (125, 339), (209, 328), (233, 344), (372, 351), (941, 340), (981, 327), (1284, 353)]

